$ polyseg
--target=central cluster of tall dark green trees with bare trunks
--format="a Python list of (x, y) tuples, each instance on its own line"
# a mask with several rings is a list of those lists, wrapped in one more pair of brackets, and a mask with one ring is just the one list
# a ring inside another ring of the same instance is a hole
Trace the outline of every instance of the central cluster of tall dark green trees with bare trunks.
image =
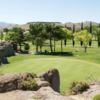
[(38, 52), (39, 47), (40, 52), (42, 52), (42, 47), (46, 40), (49, 40), (51, 53), (56, 51), (56, 41), (61, 41), (61, 52), (63, 52), (63, 41), (66, 40), (69, 35), (67, 34), (68, 30), (66, 28), (51, 23), (32, 24), (30, 25), (29, 32), (32, 35), (33, 43), (36, 45), (36, 52)]

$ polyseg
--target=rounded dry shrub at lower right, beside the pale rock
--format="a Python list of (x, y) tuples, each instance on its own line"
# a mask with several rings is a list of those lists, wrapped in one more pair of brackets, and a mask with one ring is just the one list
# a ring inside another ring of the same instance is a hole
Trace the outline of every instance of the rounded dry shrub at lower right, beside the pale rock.
[(89, 85), (86, 82), (72, 82), (70, 87), (71, 94), (80, 94), (89, 89)]

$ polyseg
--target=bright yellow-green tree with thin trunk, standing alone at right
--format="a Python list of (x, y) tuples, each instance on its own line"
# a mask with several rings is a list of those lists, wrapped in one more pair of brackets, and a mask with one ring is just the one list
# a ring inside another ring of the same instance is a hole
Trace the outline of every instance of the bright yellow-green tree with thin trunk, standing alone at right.
[(74, 34), (75, 38), (79, 41), (83, 41), (83, 46), (85, 53), (87, 52), (87, 46), (90, 40), (92, 40), (92, 35), (87, 30), (82, 30), (79, 32), (76, 32)]

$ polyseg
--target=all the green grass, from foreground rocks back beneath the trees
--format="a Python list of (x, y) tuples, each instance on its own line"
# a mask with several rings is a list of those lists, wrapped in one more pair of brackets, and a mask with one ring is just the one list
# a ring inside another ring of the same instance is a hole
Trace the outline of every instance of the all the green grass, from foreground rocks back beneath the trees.
[[(63, 47), (64, 52), (72, 52), (73, 56), (18, 54), (8, 58), (10, 64), (1, 66), (0, 73), (34, 72), (40, 74), (51, 68), (57, 68), (61, 76), (62, 92), (68, 90), (73, 81), (99, 79), (100, 48), (97, 47), (96, 42), (88, 48), (87, 53), (79, 43), (73, 48), (71, 41), (68, 41), (67, 46)], [(45, 49), (49, 51), (49, 46), (44, 46), (43, 50)], [(35, 51), (35, 46), (31, 45), (31, 51)], [(56, 51), (60, 51), (60, 42), (56, 45)]]

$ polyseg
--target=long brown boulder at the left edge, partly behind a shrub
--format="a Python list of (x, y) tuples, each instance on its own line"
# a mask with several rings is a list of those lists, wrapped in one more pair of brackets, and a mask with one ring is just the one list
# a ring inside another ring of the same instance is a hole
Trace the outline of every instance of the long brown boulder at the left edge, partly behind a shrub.
[(6, 74), (0, 76), (0, 92), (7, 92), (11, 90), (20, 89), (19, 83), (21, 80), (27, 78), (34, 79), (34, 75), (31, 73), (19, 73), (19, 74)]

